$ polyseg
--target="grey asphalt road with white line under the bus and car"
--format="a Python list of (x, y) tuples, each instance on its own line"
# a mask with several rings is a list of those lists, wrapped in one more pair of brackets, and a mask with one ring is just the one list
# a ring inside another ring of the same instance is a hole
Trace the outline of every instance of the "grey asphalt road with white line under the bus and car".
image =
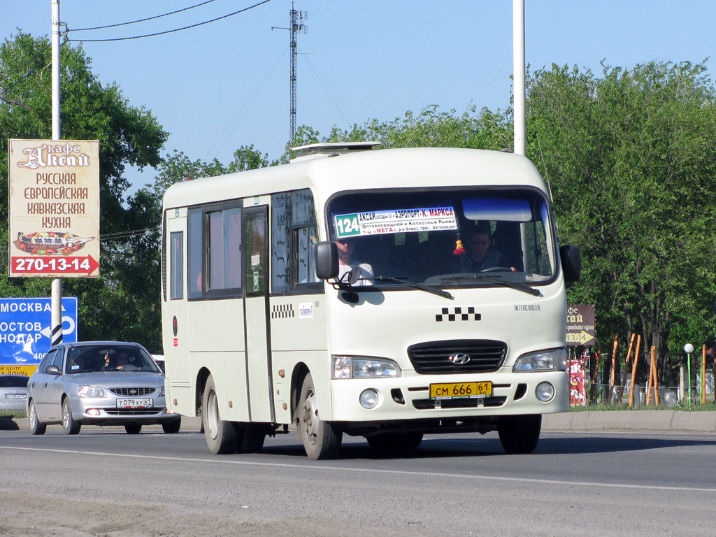
[(410, 455), (344, 438), (311, 461), (294, 435), (208, 453), (203, 435), (0, 431), (0, 535), (712, 536), (716, 436), (543, 432), (426, 437)]

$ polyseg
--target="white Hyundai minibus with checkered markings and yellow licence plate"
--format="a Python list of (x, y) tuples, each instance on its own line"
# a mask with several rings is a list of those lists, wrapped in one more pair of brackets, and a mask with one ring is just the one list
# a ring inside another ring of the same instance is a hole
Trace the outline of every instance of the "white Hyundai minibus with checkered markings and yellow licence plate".
[(530, 453), (541, 415), (567, 410), (581, 265), (536, 168), (372, 145), (304, 146), (166, 191), (166, 400), (202, 415), (212, 453), (291, 425), (312, 459), (337, 457), (344, 434), (396, 450), (496, 430)]

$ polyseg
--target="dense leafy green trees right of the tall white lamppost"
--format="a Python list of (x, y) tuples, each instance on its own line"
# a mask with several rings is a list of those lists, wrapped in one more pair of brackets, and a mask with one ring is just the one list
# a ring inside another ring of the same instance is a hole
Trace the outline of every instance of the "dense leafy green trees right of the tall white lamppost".
[(528, 77), (528, 155), (583, 258), (571, 299), (597, 305), (604, 347), (642, 334), (667, 379), (684, 342), (713, 329), (716, 92), (704, 73), (652, 62)]

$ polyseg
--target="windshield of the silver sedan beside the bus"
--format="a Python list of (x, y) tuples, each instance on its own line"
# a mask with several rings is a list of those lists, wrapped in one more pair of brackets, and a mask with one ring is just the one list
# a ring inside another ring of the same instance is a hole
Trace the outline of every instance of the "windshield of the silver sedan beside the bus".
[(128, 345), (83, 345), (71, 347), (67, 355), (65, 372), (142, 371), (159, 373), (160, 370), (140, 347)]

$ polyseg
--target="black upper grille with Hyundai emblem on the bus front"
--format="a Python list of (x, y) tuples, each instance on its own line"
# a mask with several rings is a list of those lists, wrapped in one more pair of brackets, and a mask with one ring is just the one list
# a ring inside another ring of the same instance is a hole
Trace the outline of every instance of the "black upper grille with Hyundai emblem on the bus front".
[[(420, 374), (492, 373), (502, 367), (507, 345), (490, 339), (450, 339), (411, 345), (407, 354)], [(455, 364), (449, 358), (456, 354), (465, 354), (470, 360)]]

